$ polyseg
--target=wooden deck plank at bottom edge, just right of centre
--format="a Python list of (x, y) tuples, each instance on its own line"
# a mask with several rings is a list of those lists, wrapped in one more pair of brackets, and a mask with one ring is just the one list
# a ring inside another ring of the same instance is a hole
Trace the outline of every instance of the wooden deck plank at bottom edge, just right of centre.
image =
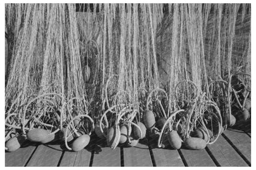
[(153, 166), (148, 145), (124, 148), (124, 166)]

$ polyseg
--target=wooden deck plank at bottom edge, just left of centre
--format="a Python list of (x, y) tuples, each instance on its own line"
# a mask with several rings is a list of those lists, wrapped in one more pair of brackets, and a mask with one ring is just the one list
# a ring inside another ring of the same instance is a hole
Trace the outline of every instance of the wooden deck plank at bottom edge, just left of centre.
[(95, 145), (94, 160), (92, 166), (121, 166), (120, 148), (98, 147)]

